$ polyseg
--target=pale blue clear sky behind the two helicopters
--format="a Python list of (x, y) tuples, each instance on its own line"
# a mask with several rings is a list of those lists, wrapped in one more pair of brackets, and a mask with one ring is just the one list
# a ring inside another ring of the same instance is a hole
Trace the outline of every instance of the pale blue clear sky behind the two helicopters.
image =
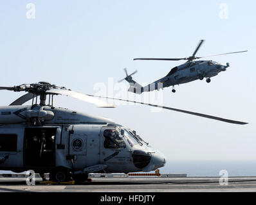
[[(27, 19), (27, 4), (35, 19)], [(219, 17), (220, 5), (228, 18)], [(163, 104), (228, 119), (245, 126), (194, 117), (147, 106), (96, 108), (69, 97), (56, 97), (55, 106), (108, 117), (135, 129), (169, 161), (256, 160), (255, 127), (255, 1), (1, 1), (1, 86), (49, 81), (84, 94), (96, 94), (96, 83), (128, 72), (138, 83), (151, 83), (184, 61), (133, 61), (138, 57), (184, 58), (199, 40), (197, 56), (215, 56), (230, 63), (211, 83), (194, 81), (163, 91)], [(207, 60), (207, 58), (206, 58)], [(123, 85), (127, 86), (126, 82)], [(117, 91), (114, 91), (114, 94)], [(1, 91), (1, 105), (21, 93)], [(108, 94), (106, 94), (108, 95)]]

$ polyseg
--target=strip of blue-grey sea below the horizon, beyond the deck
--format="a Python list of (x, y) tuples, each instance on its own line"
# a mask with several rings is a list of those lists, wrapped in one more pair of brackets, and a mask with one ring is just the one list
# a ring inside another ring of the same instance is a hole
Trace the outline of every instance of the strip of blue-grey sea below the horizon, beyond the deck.
[[(193, 176), (221, 176), (219, 172), (226, 170), (228, 176), (256, 176), (256, 161), (171, 161), (167, 160), (160, 173), (185, 173)], [(0, 171), (0, 173), (13, 173)], [(24, 174), (26, 172), (23, 172)]]

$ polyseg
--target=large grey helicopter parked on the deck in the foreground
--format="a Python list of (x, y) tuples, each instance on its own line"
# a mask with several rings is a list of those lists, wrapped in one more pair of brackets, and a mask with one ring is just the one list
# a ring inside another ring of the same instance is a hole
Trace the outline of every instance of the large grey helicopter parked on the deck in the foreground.
[[(98, 99), (100, 96), (80, 94), (44, 81), (1, 86), (0, 90), (28, 92), (9, 106), (0, 106), (0, 170), (34, 170), (43, 180), (46, 180), (44, 173), (49, 172), (53, 181), (83, 182), (92, 172), (149, 172), (166, 163), (165, 156), (133, 129), (111, 119), (53, 106), (54, 95), (68, 95), (101, 108), (114, 108), (113, 104)], [(31, 100), (32, 104), (23, 105)], [(156, 104), (146, 105), (247, 124)]]

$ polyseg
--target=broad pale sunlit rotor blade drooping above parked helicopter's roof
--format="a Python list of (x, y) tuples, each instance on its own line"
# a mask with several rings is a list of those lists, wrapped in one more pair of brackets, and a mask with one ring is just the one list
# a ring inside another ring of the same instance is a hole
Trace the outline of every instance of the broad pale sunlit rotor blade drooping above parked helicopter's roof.
[(72, 91), (72, 90), (52, 88), (50, 90), (47, 90), (46, 94), (60, 94), (60, 95), (67, 95), (69, 97), (75, 97), (77, 99), (80, 99), (81, 101), (95, 104), (96, 106), (98, 106), (100, 108), (114, 108), (115, 107), (113, 104), (108, 104), (107, 102), (96, 99), (95, 97), (91, 97), (86, 94), (80, 94), (80, 93)]

